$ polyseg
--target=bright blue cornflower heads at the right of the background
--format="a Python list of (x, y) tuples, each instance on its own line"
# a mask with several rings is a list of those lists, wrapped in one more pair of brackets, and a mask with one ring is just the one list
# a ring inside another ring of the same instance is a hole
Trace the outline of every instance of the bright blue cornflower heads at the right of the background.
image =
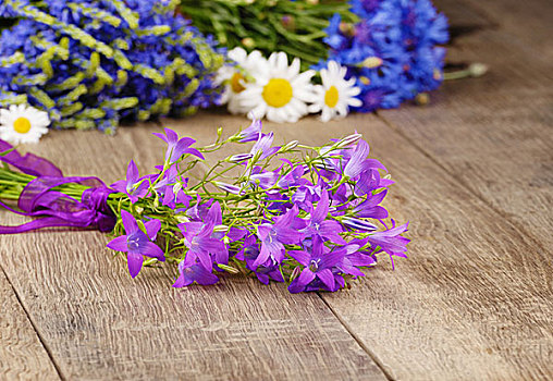
[[(430, 0), (351, 0), (356, 24), (334, 14), (325, 29), (329, 60), (356, 77), (358, 111), (396, 108), (443, 79), (447, 20)], [(318, 66), (325, 66), (321, 62)]]

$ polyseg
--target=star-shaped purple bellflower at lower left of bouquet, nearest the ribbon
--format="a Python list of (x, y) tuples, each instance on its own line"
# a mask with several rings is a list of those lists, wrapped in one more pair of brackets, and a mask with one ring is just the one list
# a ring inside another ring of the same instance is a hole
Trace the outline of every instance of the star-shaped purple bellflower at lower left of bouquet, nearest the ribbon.
[(128, 272), (132, 278), (135, 278), (140, 272), (144, 262), (143, 256), (156, 258), (160, 261), (165, 260), (163, 250), (152, 242), (156, 239), (161, 229), (161, 222), (159, 220), (146, 222), (144, 224), (146, 233), (144, 233), (138, 228), (133, 214), (126, 210), (121, 210), (121, 219), (123, 220), (126, 235), (121, 235), (112, 239), (108, 243), (108, 247), (112, 250), (127, 253)]

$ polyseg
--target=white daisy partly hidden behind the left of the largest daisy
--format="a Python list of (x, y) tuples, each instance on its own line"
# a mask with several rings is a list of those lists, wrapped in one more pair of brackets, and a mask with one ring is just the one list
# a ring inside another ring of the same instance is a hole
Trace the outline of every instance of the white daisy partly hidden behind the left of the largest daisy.
[(230, 50), (228, 56), (236, 65), (224, 65), (217, 74), (216, 83), (225, 84), (221, 103), (228, 103), (228, 109), (233, 114), (246, 113), (249, 110), (241, 107), (242, 91), (259, 71), (267, 70), (267, 60), (259, 50), (248, 54), (239, 47)]

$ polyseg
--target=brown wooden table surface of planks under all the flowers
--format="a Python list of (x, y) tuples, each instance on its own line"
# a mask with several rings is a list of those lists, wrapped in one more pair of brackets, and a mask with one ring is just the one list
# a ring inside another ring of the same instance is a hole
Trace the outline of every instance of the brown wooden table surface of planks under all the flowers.
[[(444, 84), (427, 107), (265, 124), (279, 143), (362, 133), (397, 182), (388, 207), (410, 221), (409, 259), (334, 294), (241, 276), (173, 290), (171, 269), (131, 280), (101, 233), (0, 236), (0, 379), (553, 379), (553, 4), (435, 3), (448, 61), (489, 74)], [(200, 143), (247, 125), (221, 111), (162, 122)], [(160, 125), (51, 132), (27, 148), (112, 182), (130, 159), (162, 159)]]

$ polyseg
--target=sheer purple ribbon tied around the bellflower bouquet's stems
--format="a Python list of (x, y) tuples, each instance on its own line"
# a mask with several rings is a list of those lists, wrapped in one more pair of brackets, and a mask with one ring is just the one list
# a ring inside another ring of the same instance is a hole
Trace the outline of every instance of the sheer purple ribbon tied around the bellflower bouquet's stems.
[[(26, 174), (37, 176), (25, 186), (15, 210), (0, 201), (0, 206), (22, 216), (41, 217), (19, 226), (1, 226), (0, 234), (17, 234), (53, 226), (89, 228), (109, 232), (115, 225), (115, 217), (108, 206), (108, 196), (113, 193), (97, 177), (64, 177), (60, 169), (50, 161), (27, 153), (22, 157), (8, 143), (0, 140), (0, 161), (7, 162)], [(81, 200), (53, 190), (63, 184), (79, 184), (89, 187)]]

